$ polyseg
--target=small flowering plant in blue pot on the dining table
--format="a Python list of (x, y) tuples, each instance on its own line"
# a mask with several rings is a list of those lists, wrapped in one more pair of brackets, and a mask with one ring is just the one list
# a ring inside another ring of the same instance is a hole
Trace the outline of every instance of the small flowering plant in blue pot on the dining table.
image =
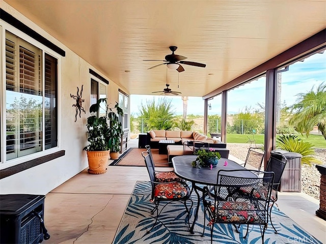
[(208, 150), (202, 148), (198, 150), (196, 153), (197, 158), (192, 162), (193, 167), (201, 168), (203, 166), (206, 167), (216, 167), (219, 163), (219, 159), (221, 159), (221, 155), (218, 151), (215, 151), (214, 148), (209, 148)]

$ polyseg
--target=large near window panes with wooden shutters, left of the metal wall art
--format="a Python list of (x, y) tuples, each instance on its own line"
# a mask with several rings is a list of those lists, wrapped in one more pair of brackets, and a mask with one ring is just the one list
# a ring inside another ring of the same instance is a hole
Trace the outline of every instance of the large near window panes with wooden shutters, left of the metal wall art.
[(43, 64), (41, 49), (10, 32), (5, 55), (6, 160), (11, 160), (57, 146), (58, 62), (45, 54)]

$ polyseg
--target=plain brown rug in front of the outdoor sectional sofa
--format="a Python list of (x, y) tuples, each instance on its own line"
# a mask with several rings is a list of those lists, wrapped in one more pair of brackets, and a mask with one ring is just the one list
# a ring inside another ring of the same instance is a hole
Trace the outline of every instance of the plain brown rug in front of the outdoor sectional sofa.
[[(142, 151), (145, 148), (129, 148), (119, 159), (113, 161), (110, 166), (145, 166), (145, 161), (142, 156)], [(171, 167), (171, 164), (156, 164), (168, 163), (168, 155), (158, 154), (158, 149), (151, 149), (155, 167)]]

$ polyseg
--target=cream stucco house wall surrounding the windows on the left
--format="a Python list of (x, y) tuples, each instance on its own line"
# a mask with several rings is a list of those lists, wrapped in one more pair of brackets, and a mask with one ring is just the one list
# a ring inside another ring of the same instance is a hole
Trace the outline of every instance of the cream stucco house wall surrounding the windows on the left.
[[(83, 147), (87, 144), (86, 120), (89, 116), (90, 106), (91, 74), (89, 69), (94, 70), (110, 81), (110, 84), (107, 86), (107, 97), (110, 103), (115, 104), (118, 101), (118, 89), (121, 87), (2, 0), (0, 0), (0, 7), (66, 52), (66, 56), (61, 57), (61, 66), (59, 67), (61, 68), (59, 81), (60, 146), (56, 149), (57, 151), (65, 150), (65, 156), (0, 180), (0, 194), (45, 195), (88, 167), (87, 155), (86, 151), (83, 151)], [(0, 25), (6, 24), (2, 21)], [(1, 80), (1, 82), (3, 86), (5, 81)], [(75, 108), (72, 105), (75, 104), (75, 100), (70, 97), (70, 94), (76, 95), (77, 86), (80, 89), (82, 85), (84, 85), (83, 98), (85, 99), (83, 107), (86, 110), (86, 114), (82, 113), (81, 118), (77, 116), (77, 121), (74, 122)], [(122, 89), (125, 90), (124, 88)], [(1, 168), (6, 168), (6, 164), (9, 163), (0, 165)]]

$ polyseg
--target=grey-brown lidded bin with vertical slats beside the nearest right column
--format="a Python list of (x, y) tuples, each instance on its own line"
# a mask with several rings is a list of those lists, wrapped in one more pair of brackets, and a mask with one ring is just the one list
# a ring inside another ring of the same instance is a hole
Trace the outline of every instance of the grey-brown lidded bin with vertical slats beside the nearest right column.
[(301, 158), (298, 153), (276, 149), (270, 152), (270, 157), (284, 161), (287, 159), (279, 187), (280, 192), (301, 192)]

